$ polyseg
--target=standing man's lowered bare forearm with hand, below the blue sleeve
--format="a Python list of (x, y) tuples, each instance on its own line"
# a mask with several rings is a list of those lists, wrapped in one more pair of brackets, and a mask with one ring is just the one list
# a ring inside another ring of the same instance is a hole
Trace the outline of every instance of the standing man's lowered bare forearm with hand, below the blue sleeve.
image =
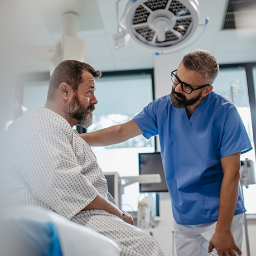
[(209, 252), (215, 247), (218, 254), (234, 255), (234, 250), (241, 255), (240, 249), (235, 245), (230, 232), (231, 223), (235, 213), (238, 199), (238, 183), (240, 179), (240, 152), (221, 158), (224, 177), (220, 191), (219, 216), (215, 234), (209, 244)]

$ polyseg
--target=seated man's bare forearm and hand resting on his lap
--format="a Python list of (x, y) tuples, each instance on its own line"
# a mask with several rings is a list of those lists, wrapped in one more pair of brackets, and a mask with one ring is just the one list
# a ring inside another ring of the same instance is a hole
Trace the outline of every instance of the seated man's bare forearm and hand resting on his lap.
[[(118, 216), (122, 220), (125, 220), (124, 212), (118, 209), (117, 206), (109, 202), (107, 199), (105, 199), (101, 195), (96, 196), (95, 199), (91, 201), (90, 204), (83, 209), (83, 211), (86, 211), (86, 210), (104, 210), (109, 212), (110, 214)], [(132, 216), (129, 215), (127, 212), (125, 212), (125, 215), (126, 215), (126, 222), (133, 225)]]

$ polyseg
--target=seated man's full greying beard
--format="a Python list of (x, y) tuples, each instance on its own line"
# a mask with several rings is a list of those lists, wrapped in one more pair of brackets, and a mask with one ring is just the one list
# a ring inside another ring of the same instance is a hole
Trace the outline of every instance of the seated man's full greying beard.
[(74, 118), (77, 121), (78, 125), (83, 126), (85, 129), (88, 128), (93, 123), (93, 112), (94, 105), (89, 105), (88, 108), (85, 108), (79, 101), (78, 94), (74, 94), (69, 105), (65, 109), (65, 113), (69, 117)]

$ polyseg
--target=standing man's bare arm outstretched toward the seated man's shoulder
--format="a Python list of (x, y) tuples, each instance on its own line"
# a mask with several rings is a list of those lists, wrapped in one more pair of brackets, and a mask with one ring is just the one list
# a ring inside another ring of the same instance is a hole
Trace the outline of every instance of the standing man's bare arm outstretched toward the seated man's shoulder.
[(131, 120), (127, 123), (114, 125), (96, 132), (83, 133), (80, 136), (90, 146), (108, 146), (127, 141), (127, 139), (142, 133), (136, 122)]

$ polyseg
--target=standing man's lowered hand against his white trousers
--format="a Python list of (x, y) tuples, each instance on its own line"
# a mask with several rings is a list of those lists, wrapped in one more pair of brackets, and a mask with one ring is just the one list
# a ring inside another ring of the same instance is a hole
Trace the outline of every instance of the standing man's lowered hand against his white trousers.
[(209, 243), (208, 253), (210, 253), (214, 247), (219, 256), (236, 256), (234, 250), (241, 255), (241, 250), (236, 246), (230, 231), (215, 231)]

